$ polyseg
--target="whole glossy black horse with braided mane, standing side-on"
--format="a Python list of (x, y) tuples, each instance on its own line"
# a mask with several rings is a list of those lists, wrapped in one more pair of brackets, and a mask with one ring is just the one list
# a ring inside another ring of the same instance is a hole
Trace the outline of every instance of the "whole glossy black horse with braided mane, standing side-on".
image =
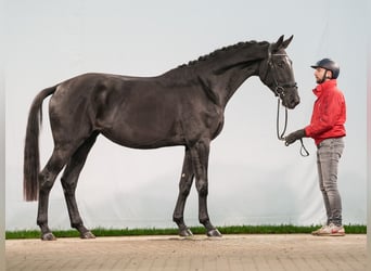
[[(82, 238), (94, 235), (80, 218), (75, 190), (97, 137), (135, 149), (186, 147), (174, 221), (181, 236), (192, 235), (183, 221), (195, 177), (199, 219), (208, 236), (220, 236), (207, 212), (209, 144), (221, 131), (225, 107), (251, 76), (294, 108), (299, 103), (292, 62), (285, 49), (293, 37), (277, 42), (240, 42), (156, 77), (85, 74), (47, 88), (35, 98), (28, 115), (24, 152), (24, 197), (37, 201), (42, 240), (55, 240), (48, 227), (49, 193), (59, 172), (71, 224)], [(49, 104), (53, 153), (40, 171), (39, 130), (42, 101)]]

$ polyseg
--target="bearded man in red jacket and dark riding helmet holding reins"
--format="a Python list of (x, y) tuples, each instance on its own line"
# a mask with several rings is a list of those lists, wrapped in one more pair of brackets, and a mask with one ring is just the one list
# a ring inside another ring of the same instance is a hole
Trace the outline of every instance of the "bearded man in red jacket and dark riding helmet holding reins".
[(312, 234), (343, 236), (345, 230), (342, 224), (342, 199), (337, 190), (337, 167), (344, 150), (343, 138), (346, 136), (346, 104), (344, 94), (337, 88), (340, 66), (331, 59), (322, 59), (311, 67), (315, 68), (318, 85), (314, 89), (317, 100), (310, 124), (285, 137), (285, 144), (290, 145), (305, 137), (315, 140), (319, 186), (328, 221)]

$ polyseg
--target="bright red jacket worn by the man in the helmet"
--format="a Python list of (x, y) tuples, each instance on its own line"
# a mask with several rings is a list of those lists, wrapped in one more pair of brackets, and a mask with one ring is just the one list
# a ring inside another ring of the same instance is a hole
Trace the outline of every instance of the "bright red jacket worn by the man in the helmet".
[(336, 80), (318, 85), (314, 93), (317, 100), (310, 125), (305, 127), (306, 136), (312, 138), (317, 145), (324, 139), (345, 137), (346, 105)]

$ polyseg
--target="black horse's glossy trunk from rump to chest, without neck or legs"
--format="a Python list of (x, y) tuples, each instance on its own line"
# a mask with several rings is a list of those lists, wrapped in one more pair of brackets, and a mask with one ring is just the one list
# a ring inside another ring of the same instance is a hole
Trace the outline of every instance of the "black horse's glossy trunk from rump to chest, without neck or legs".
[(136, 149), (184, 145), (213, 137), (220, 126), (220, 112), (200, 88), (196, 81), (162, 76), (86, 74), (57, 87), (50, 101), (51, 125), (82, 138), (100, 131)]

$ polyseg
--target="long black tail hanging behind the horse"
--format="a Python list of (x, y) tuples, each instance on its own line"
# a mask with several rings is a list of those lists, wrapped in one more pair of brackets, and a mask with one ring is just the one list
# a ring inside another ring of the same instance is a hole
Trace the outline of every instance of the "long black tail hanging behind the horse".
[(23, 165), (23, 195), (26, 202), (38, 199), (38, 175), (40, 172), (39, 132), (42, 122), (42, 102), (47, 96), (53, 94), (55, 90), (56, 86), (40, 91), (34, 99), (29, 109)]

